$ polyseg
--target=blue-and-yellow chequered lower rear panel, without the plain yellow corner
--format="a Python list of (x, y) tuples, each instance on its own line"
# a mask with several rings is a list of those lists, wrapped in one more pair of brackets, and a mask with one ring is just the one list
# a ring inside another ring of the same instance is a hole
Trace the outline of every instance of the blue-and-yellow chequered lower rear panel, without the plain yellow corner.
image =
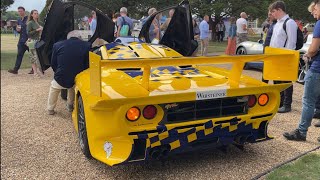
[[(271, 116), (271, 115), (270, 115)], [(158, 126), (157, 132), (144, 131), (130, 133), (134, 145), (127, 162), (161, 159), (169, 154), (194, 151), (197, 149), (243, 145), (268, 140), (268, 121), (261, 121), (258, 128), (245, 121), (236, 120), (224, 124), (213, 124), (212, 120), (192, 127), (177, 127), (168, 130)]]

